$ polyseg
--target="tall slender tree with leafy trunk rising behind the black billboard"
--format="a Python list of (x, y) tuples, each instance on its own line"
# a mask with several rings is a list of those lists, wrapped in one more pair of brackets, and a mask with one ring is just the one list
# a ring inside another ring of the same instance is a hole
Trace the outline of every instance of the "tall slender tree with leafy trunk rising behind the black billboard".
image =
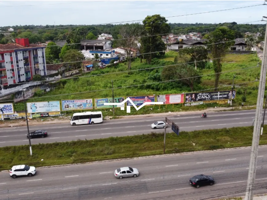
[(210, 43), (209, 48), (211, 49), (212, 58), (216, 58), (213, 60), (213, 70), (215, 72), (214, 87), (217, 91), (220, 73), (222, 72), (222, 57), (225, 56), (230, 46), (234, 45), (234, 41), (231, 41), (235, 39), (234, 31), (222, 26), (206, 36)]

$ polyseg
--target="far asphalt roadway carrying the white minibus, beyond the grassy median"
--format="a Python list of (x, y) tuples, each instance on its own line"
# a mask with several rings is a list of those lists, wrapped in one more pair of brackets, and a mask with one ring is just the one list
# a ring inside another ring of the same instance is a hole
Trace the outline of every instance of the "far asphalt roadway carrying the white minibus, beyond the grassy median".
[[(254, 118), (255, 110), (207, 113), (207, 118), (201, 118), (200, 114), (173, 115), (168, 117), (168, 119), (180, 127), (180, 131), (251, 126)], [(267, 118), (265, 119), (266, 124)], [(33, 138), (31, 140), (32, 144), (39, 144), (164, 132), (164, 129), (155, 130), (150, 127), (152, 123), (159, 120), (165, 119), (164, 117), (115, 119), (103, 121), (100, 124), (77, 126), (71, 126), (70, 123), (46, 124), (29, 126), (29, 129), (30, 132), (38, 129), (48, 131), (47, 138)], [(167, 127), (167, 132), (172, 132), (170, 126)], [(29, 144), (26, 135), (26, 126), (2, 128), (0, 130), (0, 147)]]

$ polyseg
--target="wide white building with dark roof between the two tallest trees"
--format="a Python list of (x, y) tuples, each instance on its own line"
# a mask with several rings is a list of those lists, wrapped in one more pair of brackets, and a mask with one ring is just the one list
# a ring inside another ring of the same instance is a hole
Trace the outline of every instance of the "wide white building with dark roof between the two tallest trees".
[(183, 48), (190, 48), (190, 47), (199, 47), (203, 46), (206, 40), (179, 40), (174, 43), (171, 43), (168, 45), (168, 49), (173, 50), (173, 49), (183, 49)]

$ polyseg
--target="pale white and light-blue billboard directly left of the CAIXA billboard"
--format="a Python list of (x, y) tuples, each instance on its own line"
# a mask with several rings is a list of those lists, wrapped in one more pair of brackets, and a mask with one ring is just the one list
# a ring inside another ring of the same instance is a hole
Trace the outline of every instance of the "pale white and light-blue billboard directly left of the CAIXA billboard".
[(27, 103), (27, 110), (29, 113), (47, 113), (53, 111), (60, 111), (59, 101), (41, 101)]

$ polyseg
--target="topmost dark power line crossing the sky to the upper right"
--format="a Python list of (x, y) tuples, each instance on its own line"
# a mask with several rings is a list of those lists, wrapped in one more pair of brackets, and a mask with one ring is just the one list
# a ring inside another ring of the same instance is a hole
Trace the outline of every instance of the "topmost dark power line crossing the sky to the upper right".
[[(197, 15), (197, 14), (205, 14), (205, 13), (215, 13), (215, 12), (221, 12), (221, 11), (227, 11), (227, 10), (235, 10), (235, 9), (242, 9), (242, 8), (250, 8), (250, 7), (255, 7), (255, 6), (262, 6), (266, 5), (265, 2), (263, 4), (257, 4), (257, 5), (252, 5), (252, 6), (243, 6), (243, 7), (237, 7), (237, 8), (230, 8), (230, 9), (222, 9), (222, 10), (214, 10), (214, 11), (207, 11), (207, 12), (201, 12), (201, 13), (191, 13), (191, 14), (184, 14), (184, 15), (175, 15), (175, 16), (169, 16), (169, 17), (157, 17), (155, 19), (164, 19), (164, 18), (172, 18), (172, 17), (184, 17), (184, 16), (190, 16), (190, 15)], [(132, 21), (120, 21), (120, 22), (111, 22), (111, 23), (103, 23), (103, 24), (93, 24), (93, 25), (88, 25), (88, 26), (98, 26), (98, 25), (108, 25), (108, 24), (122, 24), (122, 23), (129, 23), (129, 22), (137, 22), (137, 21), (143, 21), (142, 20), (132, 20)], [(77, 25), (78, 27), (80, 25)], [(74, 26), (66, 26), (66, 27), (55, 27), (55, 28), (72, 28)], [(55, 29), (55, 28), (38, 28), (38, 29), (32, 29), (30, 31), (36, 31), (36, 30), (45, 30), (45, 29)], [(26, 30), (25, 30), (26, 31)], [(10, 32), (17, 32), (17, 31), (6, 31), (2, 33), (10, 33)]]

